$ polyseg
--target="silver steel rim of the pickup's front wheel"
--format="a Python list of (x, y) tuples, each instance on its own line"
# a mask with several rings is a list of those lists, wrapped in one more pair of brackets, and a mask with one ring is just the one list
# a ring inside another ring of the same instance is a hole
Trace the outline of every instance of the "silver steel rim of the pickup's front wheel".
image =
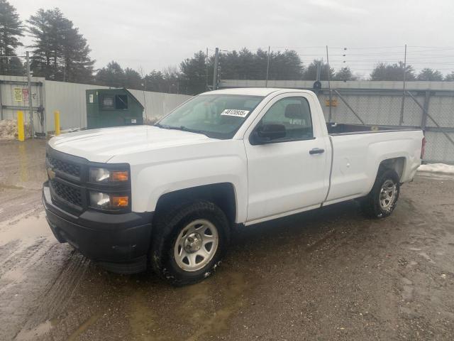
[(184, 271), (197, 271), (209, 264), (218, 249), (216, 226), (205, 219), (194, 220), (179, 232), (174, 246), (177, 265)]

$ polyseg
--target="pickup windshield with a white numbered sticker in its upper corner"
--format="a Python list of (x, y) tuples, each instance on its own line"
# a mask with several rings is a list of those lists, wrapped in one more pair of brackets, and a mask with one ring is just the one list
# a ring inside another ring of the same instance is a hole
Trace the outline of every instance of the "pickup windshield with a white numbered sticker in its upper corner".
[(201, 94), (178, 107), (155, 126), (231, 139), (263, 97), (238, 94)]

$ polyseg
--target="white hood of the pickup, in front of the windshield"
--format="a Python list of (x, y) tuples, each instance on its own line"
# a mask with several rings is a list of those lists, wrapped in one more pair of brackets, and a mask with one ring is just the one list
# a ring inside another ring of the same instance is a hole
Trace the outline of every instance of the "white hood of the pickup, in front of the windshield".
[(122, 126), (62, 134), (50, 139), (49, 146), (89, 161), (108, 162), (114, 156), (122, 154), (210, 141), (218, 140), (203, 134), (157, 126)]

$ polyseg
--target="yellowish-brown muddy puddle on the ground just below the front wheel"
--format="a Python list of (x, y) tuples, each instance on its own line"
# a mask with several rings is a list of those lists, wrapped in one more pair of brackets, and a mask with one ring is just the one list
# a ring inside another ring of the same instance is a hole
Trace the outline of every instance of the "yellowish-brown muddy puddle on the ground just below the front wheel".
[[(150, 288), (135, 290), (128, 299), (128, 322), (135, 340), (204, 340), (230, 328), (233, 316), (247, 300), (250, 278), (220, 272), (214, 278), (183, 288), (167, 288), (164, 296), (150, 297)], [(172, 313), (170, 313), (172, 312)]]

